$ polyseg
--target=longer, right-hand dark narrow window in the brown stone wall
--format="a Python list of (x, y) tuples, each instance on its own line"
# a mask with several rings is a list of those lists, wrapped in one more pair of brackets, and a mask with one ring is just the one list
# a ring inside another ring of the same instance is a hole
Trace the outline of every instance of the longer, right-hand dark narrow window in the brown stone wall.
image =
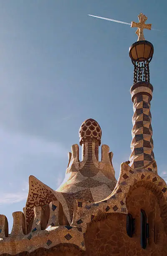
[(141, 223), (141, 237), (140, 243), (143, 249), (147, 247), (147, 238), (149, 236), (149, 225), (147, 224), (147, 215), (144, 210), (141, 209), (140, 215), (140, 223)]

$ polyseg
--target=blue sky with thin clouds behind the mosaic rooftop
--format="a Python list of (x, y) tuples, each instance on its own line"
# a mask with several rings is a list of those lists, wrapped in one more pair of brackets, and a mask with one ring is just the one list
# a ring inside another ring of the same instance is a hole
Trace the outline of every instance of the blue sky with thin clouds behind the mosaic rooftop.
[(144, 36), (154, 45), (154, 154), (167, 180), (166, 9), (157, 0), (0, 1), (0, 214), (10, 230), (12, 212), (25, 206), (30, 174), (53, 189), (62, 182), (85, 119), (101, 126), (116, 178), (131, 154), (135, 28), (88, 14), (131, 22), (143, 12), (160, 30)]

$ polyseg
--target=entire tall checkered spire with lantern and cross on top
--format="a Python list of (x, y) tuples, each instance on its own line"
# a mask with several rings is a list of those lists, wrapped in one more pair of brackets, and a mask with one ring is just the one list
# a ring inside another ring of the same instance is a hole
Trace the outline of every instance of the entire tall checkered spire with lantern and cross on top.
[(145, 24), (147, 17), (142, 13), (138, 18), (139, 23), (133, 21), (131, 25), (138, 28), (138, 41), (129, 48), (129, 56), (134, 65), (134, 84), (130, 90), (134, 110), (130, 164), (134, 169), (147, 168), (154, 160), (150, 112), (153, 86), (149, 82), (149, 62), (152, 60), (154, 47), (143, 35), (143, 29), (151, 29), (151, 24)]

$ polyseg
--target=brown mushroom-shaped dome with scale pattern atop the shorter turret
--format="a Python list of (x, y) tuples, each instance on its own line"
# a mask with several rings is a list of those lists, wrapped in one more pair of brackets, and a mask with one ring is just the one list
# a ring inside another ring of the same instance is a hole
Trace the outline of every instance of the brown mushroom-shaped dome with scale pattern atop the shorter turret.
[(96, 122), (96, 120), (89, 118), (86, 119), (80, 129), (79, 129), (79, 143), (82, 145), (84, 140), (88, 139), (96, 139), (99, 141), (99, 146), (101, 144), (101, 128), (99, 123)]

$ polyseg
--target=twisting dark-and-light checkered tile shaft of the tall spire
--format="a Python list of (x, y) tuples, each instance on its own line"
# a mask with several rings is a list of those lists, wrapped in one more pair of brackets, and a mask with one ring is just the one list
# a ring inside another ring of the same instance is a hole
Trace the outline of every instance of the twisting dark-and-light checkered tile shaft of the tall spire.
[(139, 93), (133, 98), (134, 115), (132, 118), (132, 168), (145, 166), (154, 160), (151, 112), (149, 95)]

